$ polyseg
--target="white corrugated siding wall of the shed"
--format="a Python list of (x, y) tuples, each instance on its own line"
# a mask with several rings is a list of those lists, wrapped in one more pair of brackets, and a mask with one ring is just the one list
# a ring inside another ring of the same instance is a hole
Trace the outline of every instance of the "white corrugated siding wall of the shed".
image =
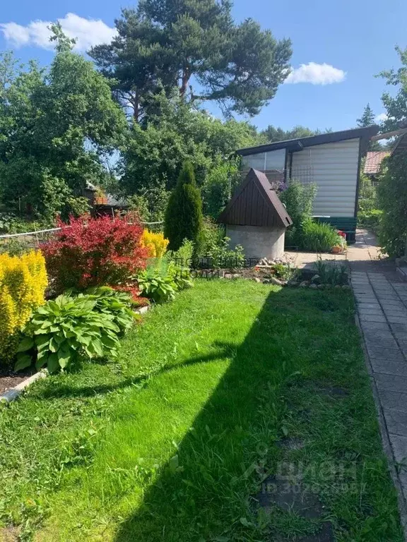
[(293, 152), (293, 179), (317, 183), (314, 215), (353, 217), (358, 181), (359, 139)]

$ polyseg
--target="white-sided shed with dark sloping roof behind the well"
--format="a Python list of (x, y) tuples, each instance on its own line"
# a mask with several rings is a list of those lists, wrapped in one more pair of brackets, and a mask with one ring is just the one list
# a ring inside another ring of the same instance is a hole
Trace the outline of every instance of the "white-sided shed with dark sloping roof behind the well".
[(379, 127), (367, 126), (237, 150), (244, 172), (263, 171), (271, 186), (297, 179), (315, 183), (314, 216), (355, 240), (360, 163)]

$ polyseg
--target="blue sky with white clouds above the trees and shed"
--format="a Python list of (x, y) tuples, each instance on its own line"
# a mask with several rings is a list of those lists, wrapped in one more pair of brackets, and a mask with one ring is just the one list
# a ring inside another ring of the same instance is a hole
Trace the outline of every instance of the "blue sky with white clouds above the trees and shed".
[[(131, 5), (112, 0), (4, 2), (0, 50), (15, 49), (23, 61), (35, 58), (46, 64), (52, 51), (45, 49), (45, 22), (61, 19), (85, 49), (110, 37), (120, 8)], [(386, 85), (374, 74), (399, 65), (396, 44), (407, 47), (405, 0), (235, 0), (233, 13), (236, 20), (259, 20), (277, 38), (293, 42), (292, 83), (281, 85), (269, 106), (252, 119), (259, 128), (302, 124), (341, 130), (355, 126), (367, 102), (375, 114), (384, 112), (380, 97)], [(293, 83), (298, 80), (305, 82)]]

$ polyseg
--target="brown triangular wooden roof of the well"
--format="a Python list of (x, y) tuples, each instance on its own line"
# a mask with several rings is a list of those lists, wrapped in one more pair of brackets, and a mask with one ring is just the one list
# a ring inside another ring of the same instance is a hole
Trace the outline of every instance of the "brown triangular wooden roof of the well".
[(222, 224), (288, 227), (293, 220), (264, 173), (250, 169), (218, 218)]

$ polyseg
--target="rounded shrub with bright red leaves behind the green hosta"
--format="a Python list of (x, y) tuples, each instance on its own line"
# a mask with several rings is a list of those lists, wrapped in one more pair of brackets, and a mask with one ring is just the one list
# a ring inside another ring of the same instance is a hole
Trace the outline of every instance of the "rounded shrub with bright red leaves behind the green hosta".
[(42, 246), (47, 272), (57, 293), (68, 288), (126, 284), (146, 267), (143, 228), (137, 219), (83, 215), (71, 217), (55, 238)]

